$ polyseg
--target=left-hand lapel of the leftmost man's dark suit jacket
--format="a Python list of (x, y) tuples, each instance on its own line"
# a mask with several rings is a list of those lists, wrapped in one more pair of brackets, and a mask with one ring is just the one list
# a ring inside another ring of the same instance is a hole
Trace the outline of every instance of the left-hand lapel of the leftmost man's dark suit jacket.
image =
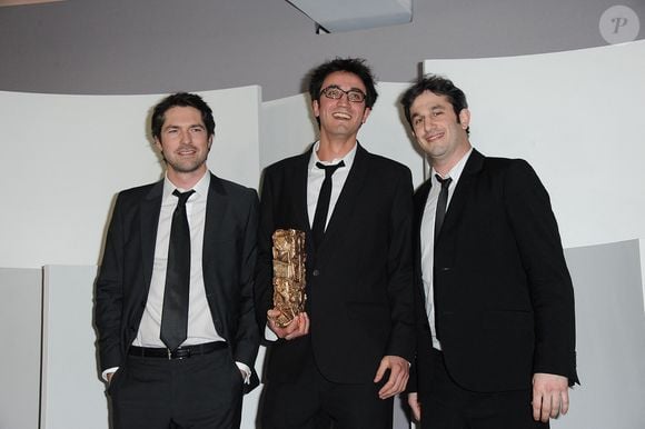
[(141, 265), (143, 267), (143, 285), (146, 288), (150, 287), (150, 280), (152, 278), (155, 242), (157, 241), (157, 228), (159, 226), (162, 196), (163, 180), (152, 186), (150, 192), (148, 192), (140, 206)]

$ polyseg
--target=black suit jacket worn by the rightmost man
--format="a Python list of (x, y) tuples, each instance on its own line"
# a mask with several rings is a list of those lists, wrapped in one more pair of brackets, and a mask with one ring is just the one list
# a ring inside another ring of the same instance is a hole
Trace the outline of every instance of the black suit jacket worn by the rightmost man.
[[(430, 190), (415, 194), (418, 390), (431, 340), (419, 228)], [(535, 372), (577, 382), (572, 280), (548, 193), (524, 160), (473, 150), (435, 246), (436, 326), (446, 367), (468, 390), (526, 389)]]

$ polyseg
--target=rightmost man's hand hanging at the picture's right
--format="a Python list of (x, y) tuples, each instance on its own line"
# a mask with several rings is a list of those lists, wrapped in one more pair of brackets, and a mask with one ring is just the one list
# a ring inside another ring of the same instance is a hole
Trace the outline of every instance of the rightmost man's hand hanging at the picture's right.
[(533, 418), (547, 422), (569, 410), (568, 379), (555, 373), (533, 375)]

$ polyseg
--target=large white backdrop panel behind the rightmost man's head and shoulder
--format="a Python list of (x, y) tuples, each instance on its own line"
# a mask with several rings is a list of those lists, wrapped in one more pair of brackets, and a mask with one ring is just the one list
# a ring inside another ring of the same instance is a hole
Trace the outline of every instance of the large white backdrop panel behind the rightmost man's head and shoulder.
[(645, 237), (645, 41), (424, 71), (466, 92), (476, 148), (534, 166), (565, 247)]

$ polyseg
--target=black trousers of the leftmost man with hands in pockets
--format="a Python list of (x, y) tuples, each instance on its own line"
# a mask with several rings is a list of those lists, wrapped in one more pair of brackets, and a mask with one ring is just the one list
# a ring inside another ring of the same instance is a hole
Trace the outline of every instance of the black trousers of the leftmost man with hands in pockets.
[(242, 385), (228, 349), (180, 360), (129, 356), (108, 388), (112, 428), (239, 428)]

